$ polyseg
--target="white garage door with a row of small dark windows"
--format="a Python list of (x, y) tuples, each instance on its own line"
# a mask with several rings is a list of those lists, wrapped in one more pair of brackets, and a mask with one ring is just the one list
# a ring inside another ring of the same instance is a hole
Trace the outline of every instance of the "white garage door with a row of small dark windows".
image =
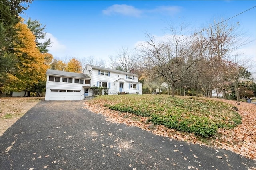
[(50, 100), (81, 100), (81, 91), (51, 89)]

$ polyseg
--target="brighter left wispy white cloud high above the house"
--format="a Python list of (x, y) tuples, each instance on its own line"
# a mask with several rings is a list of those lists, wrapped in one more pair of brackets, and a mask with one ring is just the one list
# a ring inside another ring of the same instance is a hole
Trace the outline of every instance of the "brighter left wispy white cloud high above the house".
[(134, 6), (129, 5), (112, 5), (108, 7), (106, 10), (102, 11), (105, 15), (112, 15), (112, 14), (122, 14), (124, 16), (135, 16), (139, 17), (142, 13), (141, 10), (136, 9)]

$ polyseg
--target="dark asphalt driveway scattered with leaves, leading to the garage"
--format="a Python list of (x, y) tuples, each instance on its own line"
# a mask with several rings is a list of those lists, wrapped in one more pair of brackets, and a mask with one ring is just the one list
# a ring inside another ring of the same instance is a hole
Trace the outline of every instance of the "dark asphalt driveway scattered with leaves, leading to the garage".
[(105, 121), (84, 101), (40, 101), (1, 137), (1, 170), (247, 170), (256, 161)]

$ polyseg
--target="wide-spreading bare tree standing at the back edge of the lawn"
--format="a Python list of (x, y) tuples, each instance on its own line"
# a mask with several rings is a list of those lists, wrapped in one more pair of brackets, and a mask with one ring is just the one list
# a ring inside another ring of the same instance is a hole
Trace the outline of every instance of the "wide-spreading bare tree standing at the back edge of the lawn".
[(170, 31), (172, 35), (169, 43), (159, 43), (154, 37), (147, 34), (149, 41), (146, 42), (146, 45), (142, 44), (141, 52), (144, 53), (146, 59), (146, 68), (154, 70), (154, 74), (162, 76), (170, 82), (174, 97), (176, 82), (182, 79), (196, 59), (188, 60), (191, 47), (189, 39), (185, 39), (182, 35), (183, 25), (180, 25), (179, 30), (170, 27)]

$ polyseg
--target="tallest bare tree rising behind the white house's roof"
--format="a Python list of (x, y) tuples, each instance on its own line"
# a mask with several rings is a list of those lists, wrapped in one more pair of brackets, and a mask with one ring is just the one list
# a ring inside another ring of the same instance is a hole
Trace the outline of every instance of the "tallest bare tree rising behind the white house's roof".
[(132, 53), (128, 50), (128, 48), (122, 47), (117, 53), (116, 58), (119, 60), (120, 64), (124, 68), (124, 71), (130, 72), (132, 68), (134, 68), (137, 58), (135, 53)]

